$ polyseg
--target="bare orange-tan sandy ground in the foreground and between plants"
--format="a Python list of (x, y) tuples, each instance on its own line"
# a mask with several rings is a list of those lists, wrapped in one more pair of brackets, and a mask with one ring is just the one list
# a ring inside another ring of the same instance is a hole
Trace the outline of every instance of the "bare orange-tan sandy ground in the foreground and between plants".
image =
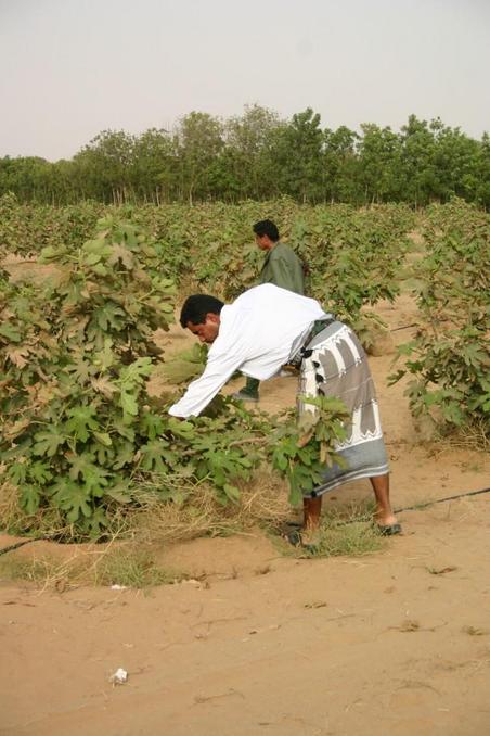
[[(413, 321), (404, 297), (382, 312), (392, 328)], [(395, 507), (489, 486), (481, 454), (421, 443), (403, 386), (386, 385), (391, 357), (370, 361)], [(261, 408), (294, 394), (294, 379), (262, 384)], [(369, 495), (357, 483), (326, 504)], [(57, 593), (0, 581), (0, 734), (487, 735), (489, 500), (403, 511), (403, 535), (359, 558), (284, 558), (257, 533), (163, 553), (204, 582)], [(119, 667), (129, 678), (113, 686)]]

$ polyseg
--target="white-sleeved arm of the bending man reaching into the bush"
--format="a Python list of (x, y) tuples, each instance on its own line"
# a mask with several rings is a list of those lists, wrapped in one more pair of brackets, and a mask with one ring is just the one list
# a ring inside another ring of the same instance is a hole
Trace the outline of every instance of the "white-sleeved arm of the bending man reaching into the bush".
[(197, 417), (244, 363), (236, 352), (208, 355), (203, 375), (193, 381), (182, 398), (168, 410), (172, 417)]

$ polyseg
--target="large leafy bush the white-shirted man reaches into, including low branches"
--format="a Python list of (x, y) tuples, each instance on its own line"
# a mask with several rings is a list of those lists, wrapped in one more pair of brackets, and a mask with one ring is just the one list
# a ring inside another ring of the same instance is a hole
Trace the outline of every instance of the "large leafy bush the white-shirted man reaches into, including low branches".
[(222, 397), (189, 421), (149, 397), (154, 330), (168, 328), (175, 294), (152, 242), (106, 218), (81, 248), (48, 246), (41, 259), (65, 277), (1, 282), (1, 471), (25, 512), (17, 531), (36, 533), (37, 515), (54, 509), (53, 534), (100, 537), (138, 505), (140, 484), (185, 503), (176, 475), (189, 494), (206, 482), (221, 504), (236, 500), (271, 426)]

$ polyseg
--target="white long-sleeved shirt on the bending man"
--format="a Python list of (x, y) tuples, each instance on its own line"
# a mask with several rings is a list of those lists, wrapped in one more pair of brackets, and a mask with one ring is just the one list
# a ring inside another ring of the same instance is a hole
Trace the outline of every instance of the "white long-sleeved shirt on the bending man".
[(311, 325), (324, 316), (314, 299), (271, 283), (248, 289), (221, 309), (206, 368), (169, 414), (198, 416), (235, 370), (260, 381), (275, 376), (301, 347)]

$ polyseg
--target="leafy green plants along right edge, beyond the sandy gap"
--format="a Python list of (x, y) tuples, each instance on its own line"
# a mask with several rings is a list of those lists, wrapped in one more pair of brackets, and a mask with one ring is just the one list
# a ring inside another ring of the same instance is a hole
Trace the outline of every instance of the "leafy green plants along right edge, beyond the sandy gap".
[(416, 266), (423, 315), (414, 340), (400, 346), (415, 416), (447, 433), (476, 423), (490, 429), (490, 221), (455, 201), (429, 211), (426, 256)]

